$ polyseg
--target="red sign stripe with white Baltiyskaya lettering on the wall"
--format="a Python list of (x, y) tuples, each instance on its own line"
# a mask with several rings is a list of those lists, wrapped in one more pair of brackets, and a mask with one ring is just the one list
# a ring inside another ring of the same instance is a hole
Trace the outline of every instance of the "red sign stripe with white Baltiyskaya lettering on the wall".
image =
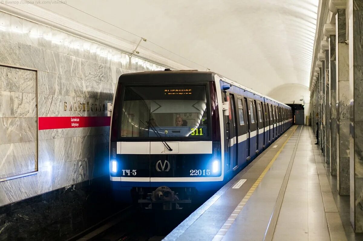
[(39, 117), (39, 130), (109, 126), (110, 116)]

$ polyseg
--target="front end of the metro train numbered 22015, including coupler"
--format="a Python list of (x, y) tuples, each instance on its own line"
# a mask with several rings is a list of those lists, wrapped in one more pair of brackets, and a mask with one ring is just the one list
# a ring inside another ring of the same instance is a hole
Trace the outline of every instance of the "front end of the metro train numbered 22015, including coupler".
[(114, 187), (131, 188), (132, 199), (145, 208), (159, 203), (178, 209), (222, 186), (221, 93), (214, 76), (199, 71), (120, 76), (110, 133)]

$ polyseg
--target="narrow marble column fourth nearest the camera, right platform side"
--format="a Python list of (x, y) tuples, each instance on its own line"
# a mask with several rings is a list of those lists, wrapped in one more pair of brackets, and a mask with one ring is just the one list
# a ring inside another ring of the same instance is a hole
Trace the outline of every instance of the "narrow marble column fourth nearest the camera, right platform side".
[(329, 49), (325, 51), (325, 163), (330, 166)]

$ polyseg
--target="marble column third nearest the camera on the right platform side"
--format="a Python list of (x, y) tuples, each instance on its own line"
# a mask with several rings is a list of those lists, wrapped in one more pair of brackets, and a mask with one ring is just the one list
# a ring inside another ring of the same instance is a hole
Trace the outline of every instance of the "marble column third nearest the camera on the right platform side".
[(330, 174), (337, 175), (337, 73), (335, 61), (335, 35), (329, 37), (329, 94), (330, 94)]

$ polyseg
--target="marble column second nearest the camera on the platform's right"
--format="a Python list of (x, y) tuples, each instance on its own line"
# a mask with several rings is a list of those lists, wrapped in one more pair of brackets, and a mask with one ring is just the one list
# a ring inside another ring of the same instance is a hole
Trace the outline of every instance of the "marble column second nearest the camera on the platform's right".
[(338, 9), (336, 19), (337, 63), (337, 190), (349, 195), (349, 49), (346, 43), (346, 10)]

